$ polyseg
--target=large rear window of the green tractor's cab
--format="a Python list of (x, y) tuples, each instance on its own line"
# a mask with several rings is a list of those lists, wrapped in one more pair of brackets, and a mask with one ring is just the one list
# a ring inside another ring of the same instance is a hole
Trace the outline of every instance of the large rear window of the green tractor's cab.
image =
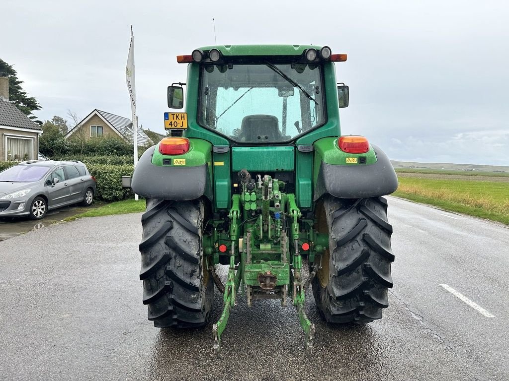
[(320, 65), (202, 66), (198, 122), (247, 143), (285, 142), (325, 122)]

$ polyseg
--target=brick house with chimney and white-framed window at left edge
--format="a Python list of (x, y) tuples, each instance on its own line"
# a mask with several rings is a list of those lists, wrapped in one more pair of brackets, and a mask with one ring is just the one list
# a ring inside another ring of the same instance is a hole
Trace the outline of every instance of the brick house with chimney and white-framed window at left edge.
[(37, 160), (42, 129), (9, 102), (9, 79), (0, 77), (0, 161)]

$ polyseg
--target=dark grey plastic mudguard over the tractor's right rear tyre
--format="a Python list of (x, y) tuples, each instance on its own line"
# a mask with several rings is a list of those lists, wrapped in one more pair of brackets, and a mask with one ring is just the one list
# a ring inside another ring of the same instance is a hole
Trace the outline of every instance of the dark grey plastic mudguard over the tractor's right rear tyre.
[(344, 199), (389, 195), (398, 188), (398, 177), (387, 155), (372, 144), (377, 161), (370, 165), (333, 165), (322, 161), (314, 201), (324, 194)]

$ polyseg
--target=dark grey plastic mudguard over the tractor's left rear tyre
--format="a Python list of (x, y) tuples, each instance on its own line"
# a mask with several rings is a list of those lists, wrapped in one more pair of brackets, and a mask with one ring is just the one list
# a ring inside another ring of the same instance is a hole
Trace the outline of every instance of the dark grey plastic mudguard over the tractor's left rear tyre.
[(156, 146), (147, 149), (132, 175), (134, 193), (151, 199), (195, 200), (210, 195), (211, 181), (207, 164), (199, 167), (159, 167), (152, 164)]

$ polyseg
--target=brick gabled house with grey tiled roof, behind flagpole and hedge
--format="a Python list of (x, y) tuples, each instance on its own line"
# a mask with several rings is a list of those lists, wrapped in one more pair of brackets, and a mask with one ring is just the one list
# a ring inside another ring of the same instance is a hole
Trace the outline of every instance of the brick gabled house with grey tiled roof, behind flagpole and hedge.
[[(100, 139), (104, 137), (119, 138), (128, 143), (132, 143), (133, 128), (131, 119), (94, 109), (65, 136), (66, 139), (78, 138), (80, 140)], [(138, 146), (153, 144), (139, 126), (137, 138)]]

